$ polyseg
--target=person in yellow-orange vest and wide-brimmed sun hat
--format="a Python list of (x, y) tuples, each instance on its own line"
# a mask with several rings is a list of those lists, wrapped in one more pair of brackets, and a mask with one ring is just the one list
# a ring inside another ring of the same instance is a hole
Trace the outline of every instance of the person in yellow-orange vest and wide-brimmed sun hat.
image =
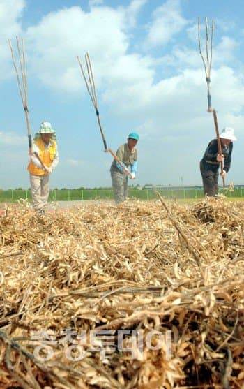
[(49, 122), (42, 122), (33, 140), (30, 173), (33, 208), (43, 214), (49, 197), (49, 176), (59, 163), (56, 131)]

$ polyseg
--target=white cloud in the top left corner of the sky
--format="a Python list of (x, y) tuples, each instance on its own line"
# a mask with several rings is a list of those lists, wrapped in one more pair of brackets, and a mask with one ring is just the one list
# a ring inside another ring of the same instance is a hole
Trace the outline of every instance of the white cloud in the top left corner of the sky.
[(21, 19), (25, 7), (24, 0), (1, 0), (0, 2), (0, 80), (13, 72), (10, 62), (8, 39), (22, 32)]

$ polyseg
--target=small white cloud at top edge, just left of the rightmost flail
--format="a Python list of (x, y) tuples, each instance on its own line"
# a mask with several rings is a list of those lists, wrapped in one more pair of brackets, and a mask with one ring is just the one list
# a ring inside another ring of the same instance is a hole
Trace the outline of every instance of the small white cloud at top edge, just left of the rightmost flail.
[(165, 45), (178, 34), (188, 21), (181, 15), (180, 0), (167, 0), (153, 11), (153, 21), (149, 25), (146, 43), (157, 47)]

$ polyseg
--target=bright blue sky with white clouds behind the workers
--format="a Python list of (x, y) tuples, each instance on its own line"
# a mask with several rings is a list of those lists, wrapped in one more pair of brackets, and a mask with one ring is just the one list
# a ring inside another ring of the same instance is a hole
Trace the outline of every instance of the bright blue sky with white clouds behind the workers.
[[(76, 56), (89, 52), (109, 146), (140, 134), (135, 184), (201, 184), (214, 138), (197, 51), (197, 17), (215, 20), (212, 100), (220, 129), (238, 138), (227, 182), (243, 184), (242, 0), (0, 0), (0, 188), (29, 186), (26, 126), (8, 38), (26, 41), (33, 133), (43, 120), (59, 140), (52, 187), (109, 186), (110, 156)], [(134, 182), (133, 182), (134, 183)]]

